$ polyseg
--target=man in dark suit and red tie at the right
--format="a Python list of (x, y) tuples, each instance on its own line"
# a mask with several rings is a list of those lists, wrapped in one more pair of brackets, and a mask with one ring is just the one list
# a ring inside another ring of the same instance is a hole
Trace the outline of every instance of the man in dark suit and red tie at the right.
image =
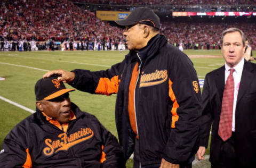
[(256, 64), (244, 60), (244, 49), (245, 35), (241, 30), (223, 31), (221, 53), (225, 66), (205, 77), (196, 156), (204, 159), (212, 125), (213, 168), (256, 167)]

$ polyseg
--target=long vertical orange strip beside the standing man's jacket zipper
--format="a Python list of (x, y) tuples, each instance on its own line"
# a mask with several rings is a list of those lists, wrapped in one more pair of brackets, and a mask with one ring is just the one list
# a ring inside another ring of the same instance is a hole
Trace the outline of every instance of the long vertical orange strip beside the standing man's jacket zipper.
[(137, 133), (136, 119), (135, 119), (134, 90), (135, 90), (137, 78), (139, 75), (138, 65), (139, 63), (137, 62), (132, 71), (132, 77), (131, 77), (130, 86), (129, 86), (129, 102), (128, 102), (129, 119), (130, 119), (132, 130), (137, 135), (137, 138), (138, 138), (138, 133)]

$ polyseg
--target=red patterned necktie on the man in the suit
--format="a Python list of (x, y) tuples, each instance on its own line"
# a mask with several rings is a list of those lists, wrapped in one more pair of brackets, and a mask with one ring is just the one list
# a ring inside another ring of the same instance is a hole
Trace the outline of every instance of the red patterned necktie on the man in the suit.
[(228, 140), (228, 138), (230, 138), (232, 134), (232, 116), (235, 88), (235, 82), (233, 78), (234, 71), (235, 69), (230, 69), (230, 74), (228, 75), (228, 79), (226, 81), (222, 98), (222, 107), (218, 133), (223, 141)]

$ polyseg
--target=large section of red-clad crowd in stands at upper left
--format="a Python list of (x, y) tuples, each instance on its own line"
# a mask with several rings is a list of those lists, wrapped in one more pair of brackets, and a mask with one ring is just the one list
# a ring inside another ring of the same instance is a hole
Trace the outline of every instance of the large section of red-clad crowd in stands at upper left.
[(3, 0), (0, 36), (7, 40), (116, 39), (122, 31), (67, 0)]

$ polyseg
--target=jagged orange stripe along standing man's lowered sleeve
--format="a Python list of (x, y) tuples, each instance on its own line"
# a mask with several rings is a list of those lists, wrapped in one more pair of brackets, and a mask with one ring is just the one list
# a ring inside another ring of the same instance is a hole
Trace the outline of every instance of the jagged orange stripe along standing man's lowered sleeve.
[(175, 128), (175, 122), (179, 120), (179, 115), (177, 114), (177, 108), (179, 108), (179, 104), (172, 90), (172, 81), (169, 79), (169, 97), (171, 98), (172, 105), (172, 128)]

